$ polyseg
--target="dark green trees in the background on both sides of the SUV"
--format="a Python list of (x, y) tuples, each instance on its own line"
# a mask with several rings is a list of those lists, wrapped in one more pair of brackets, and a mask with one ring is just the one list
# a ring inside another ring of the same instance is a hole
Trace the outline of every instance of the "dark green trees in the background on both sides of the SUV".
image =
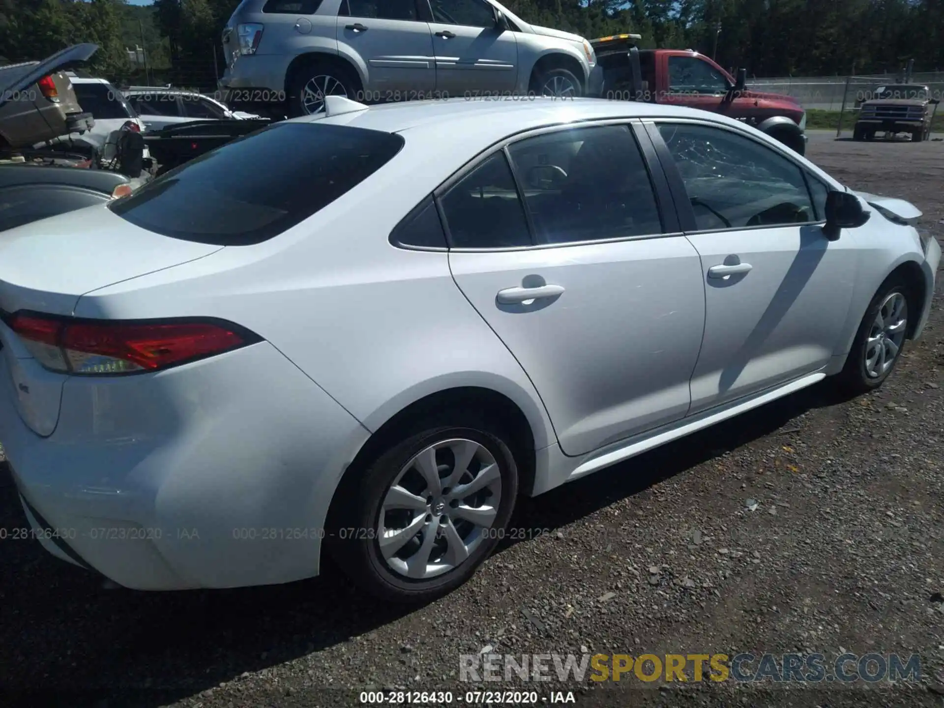
[[(220, 33), (239, 0), (0, 0), (0, 61), (95, 42), (91, 70), (116, 82), (215, 86)], [(692, 48), (750, 76), (944, 69), (944, 0), (507, 0), (535, 25), (587, 38), (637, 32), (643, 48)], [(142, 46), (144, 67), (126, 49)]]

